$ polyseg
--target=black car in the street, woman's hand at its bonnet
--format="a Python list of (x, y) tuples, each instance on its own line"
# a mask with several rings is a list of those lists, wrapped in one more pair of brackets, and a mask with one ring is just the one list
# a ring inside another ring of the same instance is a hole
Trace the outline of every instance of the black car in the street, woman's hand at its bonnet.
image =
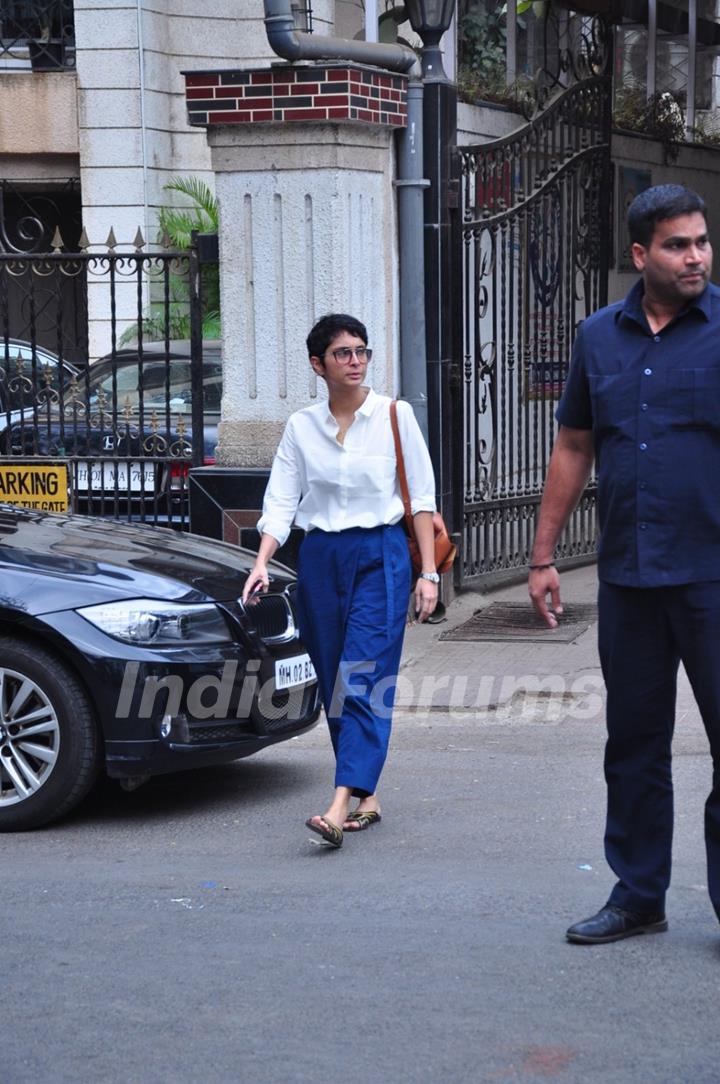
[(0, 830), (61, 816), (98, 774), (257, 752), (314, 725), (292, 572), (164, 528), (0, 504)]

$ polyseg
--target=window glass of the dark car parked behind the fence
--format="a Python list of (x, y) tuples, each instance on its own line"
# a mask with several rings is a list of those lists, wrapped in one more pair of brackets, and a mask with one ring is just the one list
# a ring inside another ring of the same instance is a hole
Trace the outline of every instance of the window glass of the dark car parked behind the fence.
[[(103, 401), (111, 411), (117, 403), (119, 413), (138, 413), (143, 410), (165, 410), (173, 414), (190, 411), (192, 402), (192, 371), (190, 358), (146, 358), (142, 366), (137, 358), (107, 360), (90, 367), (90, 402)], [(219, 411), (222, 396), (222, 365), (220, 359), (205, 359), (203, 366), (204, 406)]]

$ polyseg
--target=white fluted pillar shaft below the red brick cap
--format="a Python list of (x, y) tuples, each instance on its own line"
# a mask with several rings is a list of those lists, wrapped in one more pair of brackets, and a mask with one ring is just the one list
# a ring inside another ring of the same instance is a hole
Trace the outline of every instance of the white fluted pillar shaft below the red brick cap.
[(358, 315), (391, 391), (397, 354), (390, 133), (347, 125), (210, 134), (220, 205), (224, 397), (217, 459), (271, 462), (285, 420), (324, 393), (305, 337)]

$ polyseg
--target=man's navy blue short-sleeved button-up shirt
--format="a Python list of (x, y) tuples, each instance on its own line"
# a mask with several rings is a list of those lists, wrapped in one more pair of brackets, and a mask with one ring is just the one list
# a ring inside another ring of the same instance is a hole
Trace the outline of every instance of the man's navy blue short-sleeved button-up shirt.
[(602, 580), (720, 580), (720, 289), (658, 335), (642, 280), (578, 333), (556, 417), (592, 429)]

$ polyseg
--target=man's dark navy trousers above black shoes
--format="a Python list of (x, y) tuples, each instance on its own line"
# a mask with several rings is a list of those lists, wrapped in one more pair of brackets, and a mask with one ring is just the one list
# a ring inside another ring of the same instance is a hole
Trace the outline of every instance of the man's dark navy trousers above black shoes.
[(682, 661), (712, 757), (705, 804), (708, 888), (720, 918), (720, 582), (633, 589), (601, 583), (600, 657), (607, 686), (605, 855), (608, 902), (660, 912), (670, 883), (671, 741)]

